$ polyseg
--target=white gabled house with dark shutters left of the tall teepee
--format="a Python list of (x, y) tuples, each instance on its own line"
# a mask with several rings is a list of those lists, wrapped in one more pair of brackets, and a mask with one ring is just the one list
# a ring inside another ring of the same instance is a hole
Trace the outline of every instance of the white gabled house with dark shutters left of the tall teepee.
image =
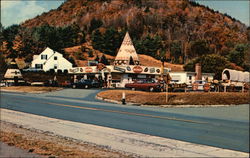
[(55, 72), (58, 70), (63, 72), (72, 68), (72, 63), (65, 59), (61, 53), (47, 47), (41, 54), (33, 56), (31, 67), (43, 71), (54, 69)]

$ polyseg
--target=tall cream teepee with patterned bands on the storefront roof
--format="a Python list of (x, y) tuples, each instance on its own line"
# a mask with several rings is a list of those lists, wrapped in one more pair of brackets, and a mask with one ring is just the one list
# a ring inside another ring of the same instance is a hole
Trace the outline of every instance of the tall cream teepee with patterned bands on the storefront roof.
[(123, 39), (122, 45), (116, 55), (114, 64), (129, 65), (131, 63), (131, 58), (133, 59), (135, 65), (139, 65), (140, 61), (138, 55), (136, 53), (132, 40), (127, 32)]

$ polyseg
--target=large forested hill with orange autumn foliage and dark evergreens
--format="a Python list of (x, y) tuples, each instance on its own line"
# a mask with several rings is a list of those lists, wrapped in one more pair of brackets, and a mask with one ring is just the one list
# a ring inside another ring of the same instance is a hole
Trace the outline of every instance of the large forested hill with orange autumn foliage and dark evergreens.
[[(14, 36), (11, 29), (16, 31)], [(245, 50), (250, 40), (245, 24), (188, 0), (68, 0), (4, 31), (7, 54), (30, 55), (45, 46), (60, 50), (87, 43), (91, 52), (114, 56), (129, 31), (137, 52), (156, 59), (166, 56), (183, 64), (216, 54), (241, 67), (247, 65)], [(22, 44), (25, 48), (20, 49)], [(243, 56), (243, 62), (233, 61), (235, 54)]]

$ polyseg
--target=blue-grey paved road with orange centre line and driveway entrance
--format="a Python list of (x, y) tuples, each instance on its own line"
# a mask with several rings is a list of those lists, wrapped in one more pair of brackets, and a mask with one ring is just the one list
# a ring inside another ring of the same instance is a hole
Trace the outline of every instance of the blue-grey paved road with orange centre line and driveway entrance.
[(1, 94), (1, 107), (52, 118), (123, 129), (249, 152), (249, 106), (152, 108), (94, 99), (99, 90)]

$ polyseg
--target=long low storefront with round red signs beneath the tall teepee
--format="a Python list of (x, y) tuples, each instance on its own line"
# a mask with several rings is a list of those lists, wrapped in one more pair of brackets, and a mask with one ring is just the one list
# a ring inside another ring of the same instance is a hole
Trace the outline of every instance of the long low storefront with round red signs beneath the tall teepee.
[[(164, 69), (164, 73), (169, 72)], [(69, 73), (76, 79), (102, 79), (109, 87), (125, 87), (126, 83), (132, 83), (137, 79), (155, 78), (161, 75), (160, 67), (148, 67), (139, 65), (108, 65), (102, 70), (97, 66), (75, 67), (69, 69)]]

